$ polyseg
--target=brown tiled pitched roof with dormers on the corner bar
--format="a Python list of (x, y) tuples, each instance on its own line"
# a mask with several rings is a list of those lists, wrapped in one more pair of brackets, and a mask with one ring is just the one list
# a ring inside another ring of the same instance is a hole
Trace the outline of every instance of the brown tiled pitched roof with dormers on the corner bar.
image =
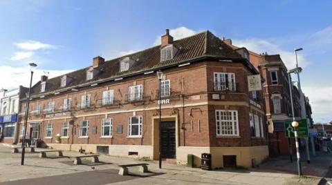
[[(214, 36), (211, 32), (205, 31), (191, 37), (184, 39), (178, 39), (174, 41), (173, 46), (178, 48), (178, 52), (173, 59), (160, 62), (160, 45), (142, 50), (105, 61), (104, 64), (95, 68), (98, 70), (98, 74), (93, 77), (92, 80), (86, 81), (86, 70), (89, 70), (91, 66), (82, 68), (73, 72), (69, 72), (66, 75), (68, 78), (68, 84), (61, 88), (61, 77), (54, 77), (46, 81), (46, 90), (44, 93), (53, 92), (55, 90), (61, 90), (66, 88), (73, 88), (80, 84), (85, 84), (92, 81), (100, 81), (102, 79), (117, 78), (124, 75), (131, 75), (136, 72), (143, 72), (147, 70), (154, 70), (164, 66), (170, 66), (174, 64), (180, 64), (190, 59), (196, 59), (204, 56), (225, 57), (229, 59), (242, 58), (239, 53), (235, 52), (228, 44), (224, 43), (221, 39)], [(125, 57), (129, 57), (134, 60), (133, 66), (125, 72), (120, 72), (120, 61)], [(32, 95), (39, 95), (40, 93), (40, 81), (33, 86)]]

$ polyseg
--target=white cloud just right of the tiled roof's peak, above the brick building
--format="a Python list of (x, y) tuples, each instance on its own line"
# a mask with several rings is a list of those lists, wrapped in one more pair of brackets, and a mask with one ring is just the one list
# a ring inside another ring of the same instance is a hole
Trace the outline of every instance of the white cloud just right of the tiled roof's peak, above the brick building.
[[(268, 52), (269, 55), (279, 54), (288, 69), (295, 68), (296, 61), (294, 52), (283, 50), (280, 46), (271, 41), (264, 39), (234, 39), (232, 42), (234, 46), (246, 47), (253, 52)], [(297, 61), (302, 68), (305, 68), (309, 64), (308, 59), (300, 53), (297, 53)]]

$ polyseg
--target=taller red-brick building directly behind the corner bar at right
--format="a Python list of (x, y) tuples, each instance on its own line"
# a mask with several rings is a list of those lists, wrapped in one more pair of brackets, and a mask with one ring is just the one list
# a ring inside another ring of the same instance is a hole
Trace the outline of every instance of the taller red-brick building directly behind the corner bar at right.
[[(232, 45), (231, 39), (223, 39), (223, 41), (234, 50), (241, 49)], [(264, 78), (262, 101), (264, 101), (268, 124), (269, 153), (271, 156), (288, 155), (291, 145), (295, 150), (295, 143), (293, 139), (288, 140), (284, 133), (284, 120), (293, 118), (287, 68), (279, 55), (268, 55), (266, 52), (257, 54), (248, 50), (248, 58)], [(295, 117), (299, 119), (301, 117), (299, 90), (297, 86), (293, 85), (293, 82), (291, 88)]]

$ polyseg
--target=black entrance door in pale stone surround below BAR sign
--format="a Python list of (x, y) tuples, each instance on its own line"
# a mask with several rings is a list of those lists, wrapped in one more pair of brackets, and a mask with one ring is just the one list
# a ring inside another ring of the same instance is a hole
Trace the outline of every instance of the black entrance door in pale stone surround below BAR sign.
[(161, 157), (176, 158), (175, 155), (175, 121), (161, 122)]

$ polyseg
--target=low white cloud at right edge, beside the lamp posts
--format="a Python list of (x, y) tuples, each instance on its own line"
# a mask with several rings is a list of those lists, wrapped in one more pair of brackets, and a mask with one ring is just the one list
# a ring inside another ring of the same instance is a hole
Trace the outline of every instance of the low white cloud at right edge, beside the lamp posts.
[(311, 103), (315, 123), (332, 121), (332, 87), (304, 86), (302, 89)]

